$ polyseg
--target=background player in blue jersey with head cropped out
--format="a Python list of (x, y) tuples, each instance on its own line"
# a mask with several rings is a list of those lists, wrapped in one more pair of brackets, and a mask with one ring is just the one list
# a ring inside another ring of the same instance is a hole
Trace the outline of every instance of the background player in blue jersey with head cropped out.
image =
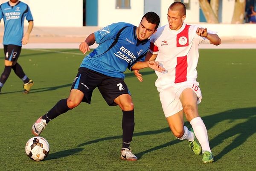
[[(27, 32), (23, 35), (24, 19), (29, 22)], [(29, 35), (33, 29), (33, 17), (29, 6), (19, 0), (9, 0), (0, 5), (0, 20), (4, 21), (3, 50), (5, 55), (4, 70), (0, 77), (1, 89), (13, 69), (15, 74), (24, 82), (23, 93), (29, 93), (34, 82), (24, 73), (17, 60), (20, 56), (21, 46), (29, 41)]]

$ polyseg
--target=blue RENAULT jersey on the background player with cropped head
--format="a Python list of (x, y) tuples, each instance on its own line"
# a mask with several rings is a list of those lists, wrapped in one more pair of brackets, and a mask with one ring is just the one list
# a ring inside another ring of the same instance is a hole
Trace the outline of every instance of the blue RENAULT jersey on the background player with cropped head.
[(26, 3), (18, 2), (15, 6), (10, 6), (9, 2), (0, 6), (0, 20), (4, 21), (3, 44), (14, 44), (22, 46), (24, 18), (33, 21), (29, 6)]

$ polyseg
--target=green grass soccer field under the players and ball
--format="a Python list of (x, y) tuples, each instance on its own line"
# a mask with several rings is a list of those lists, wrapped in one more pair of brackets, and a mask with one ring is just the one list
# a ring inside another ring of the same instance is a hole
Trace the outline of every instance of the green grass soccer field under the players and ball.
[[(3, 49), (0, 50), (3, 72)], [(38, 117), (67, 98), (84, 56), (74, 49), (23, 49), (19, 63), (35, 85), (22, 94), (23, 82), (12, 71), (0, 95), (0, 171), (253, 171), (256, 144), (256, 49), (200, 50), (199, 113), (208, 129), (216, 162), (202, 164), (186, 141), (177, 140), (165, 120), (156, 75), (141, 70), (144, 81), (127, 71), (125, 82), (135, 105), (131, 144), (138, 161), (120, 159), (122, 112), (108, 107), (98, 90), (92, 103), (81, 103), (49, 123), (41, 134), (48, 157), (35, 162), (25, 153)], [(190, 128), (188, 122), (185, 125)]]

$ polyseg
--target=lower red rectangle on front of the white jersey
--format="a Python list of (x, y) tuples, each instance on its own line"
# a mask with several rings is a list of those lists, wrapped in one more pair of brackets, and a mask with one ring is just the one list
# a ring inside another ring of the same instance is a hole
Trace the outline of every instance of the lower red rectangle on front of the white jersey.
[(175, 67), (175, 83), (186, 81), (187, 68), (187, 56), (177, 57), (177, 65)]

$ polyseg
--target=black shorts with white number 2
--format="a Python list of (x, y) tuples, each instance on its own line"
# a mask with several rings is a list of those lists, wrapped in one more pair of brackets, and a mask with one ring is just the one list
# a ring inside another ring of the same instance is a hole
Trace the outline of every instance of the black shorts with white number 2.
[[(93, 90), (98, 87), (102, 97), (109, 106), (116, 106), (114, 102), (122, 94), (130, 94), (127, 85), (122, 78), (110, 77), (99, 72), (80, 67), (73, 81), (72, 89), (78, 89), (84, 93), (83, 102), (89, 103)], [(131, 95), (131, 94), (130, 94)]]

